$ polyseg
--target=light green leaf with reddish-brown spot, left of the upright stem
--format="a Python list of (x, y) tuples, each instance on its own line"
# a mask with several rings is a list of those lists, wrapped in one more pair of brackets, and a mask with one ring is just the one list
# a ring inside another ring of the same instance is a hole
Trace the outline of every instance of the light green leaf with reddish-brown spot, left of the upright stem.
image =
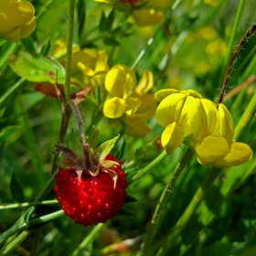
[(58, 83), (65, 83), (65, 69), (58, 62), (39, 54), (31, 55), (21, 51), (12, 59), (10, 65), (18, 75), (26, 80), (55, 83), (58, 72)]

